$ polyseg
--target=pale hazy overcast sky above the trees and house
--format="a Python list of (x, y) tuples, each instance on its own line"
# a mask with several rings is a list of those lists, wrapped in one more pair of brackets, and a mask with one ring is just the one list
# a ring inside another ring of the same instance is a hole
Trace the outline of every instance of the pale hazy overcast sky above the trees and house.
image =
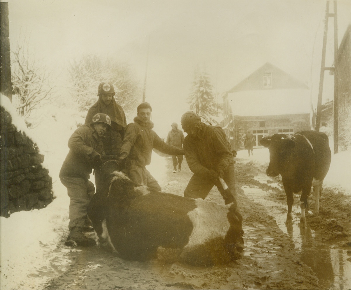
[[(351, 22), (351, 1), (337, 2), (340, 43)], [(155, 128), (164, 131), (188, 109), (196, 65), (206, 67), (220, 95), (269, 61), (312, 85), (317, 99), (325, 7), (319, 0), (10, 0), (10, 46), (21, 31), (30, 34), (35, 54), (63, 75), (68, 62), (83, 54), (115, 56), (131, 63), (142, 85), (150, 39), (146, 100)], [(330, 7), (332, 12), (332, 1)], [(331, 25), (326, 66), (332, 62)], [(328, 94), (324, 100), (332, 99)]]

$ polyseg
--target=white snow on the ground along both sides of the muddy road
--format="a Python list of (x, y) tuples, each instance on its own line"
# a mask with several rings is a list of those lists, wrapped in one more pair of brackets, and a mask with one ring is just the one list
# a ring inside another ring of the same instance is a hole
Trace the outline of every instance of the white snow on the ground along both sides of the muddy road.
[[(3, 96), (1, 104), (4, 104)], [(58, 174), (68, 153), (68, 138), (77, 128), (76, 124), (84, 120), (74, 108), (60, 109), (52, 104), (39, 111), (42, 121), (29, 130), (9, 106), (11, 104), (6, 103), (6, 109), (12, 114), (17, 128), (26, 131), (45, 155), (44, 166), (53, 178), (56, 198), (44, 209), (13, 213), (7, 219), (0, 217), (0, 285), (1, 289), (38, 289), (45, 281), (41, 281), (44, 279), (41, 275), (35, 275), (36, 271), (49, 267), (56, 245), (61, 242), (62, 236), (68, 234), (69, 198)], [(237, 157), (268, 164), (269, 151), (266, 148), (254, 149), (254, 155), (248, 157), (247, 151), (241, 150)], [(325, 178), (326, 185), (336, 184), (351, 192), (350, 157), (351, 151), (332, 157), (331, 168)], [(165, 166), (165, 158), (153, 152), (152, 163), (147, 169), (161, 187), (167, 182)], [(91, 181), (94, 181), (93, 177)]]

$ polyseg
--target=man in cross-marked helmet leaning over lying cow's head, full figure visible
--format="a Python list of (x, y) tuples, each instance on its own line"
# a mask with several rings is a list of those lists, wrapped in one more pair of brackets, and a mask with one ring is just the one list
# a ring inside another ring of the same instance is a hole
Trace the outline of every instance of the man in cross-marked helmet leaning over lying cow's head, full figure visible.
[(95, 193), (94, 184), (89, 181), (92, 169), (102, 165), (104, 154), (102, 140), (111, 129), (108, 115), (98, 113), (89, 125), (75, 130), (68, 140), (69, 152), (60, 170), (60, 180), (71, 198), (69, 203), (68, 246), (89, 247), (95, 240), (86, 237), (82, 230), (87, 219), (87, 207)]

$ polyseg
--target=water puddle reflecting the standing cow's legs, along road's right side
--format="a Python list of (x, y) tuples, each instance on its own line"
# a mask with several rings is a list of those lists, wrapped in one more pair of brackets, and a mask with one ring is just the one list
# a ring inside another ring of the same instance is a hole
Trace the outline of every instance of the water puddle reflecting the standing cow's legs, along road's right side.
[[(255, 179), (261, 183), (267, 183), (267, 177), (256, 176)], [(277, 183), (269, 183), (272, 187), (279, 187)], [(299, 197), (294, 196), (293, 205), (293, 224), (285, 225), (287, 205), (286, 202), (274, 202), (269, 198), (269, 192), (254, 187), (241, 187), (246, 197), (255, 202), (264, 205), (269, 214), (274, 217), (278, 227), (290, 237), (291, 248), (295, 248), (299, 257), (298, 260), (312, 268), (319, 279), (319, 286), (322, 289), (351, 289), (351, 252), (347, 249), (340, 249), (333, 246), (331, 242), (322, 239), (318, 231), (307, 227), (300, 228), (300, 206)], [(282, 189), (284, 190), (284, 189)], [(309, 212), (310, 214), (311, 211)], [(247, 229), (248, 234), (250, 229)], [(252, 229), (254, 230), (254, 229)], [(264, 237), (264, 243), (271, 247), (270, 240), (272, 238)], [(338, 240), (342, 243), (342, 240)], [(246, 241), (248, 249), (246, 255), (252, 255), (250, 252), (250, 240)], [(274, 249), (271, 250), (274, 252)], [(257, 253), (256, 253), (257, 254)], [(255, 254), (255, 255), (256, 255)]]

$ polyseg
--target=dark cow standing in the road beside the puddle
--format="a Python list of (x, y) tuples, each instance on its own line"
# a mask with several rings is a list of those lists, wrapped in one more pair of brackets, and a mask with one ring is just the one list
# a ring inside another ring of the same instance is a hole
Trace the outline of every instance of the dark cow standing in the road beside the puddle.
[(306, 225), (305, 210), (313, 186), (316, 199), (314, 214), (318, 214), (322, 184), (331, 162), (328, 136), (316, 131), (301, 131), (293, 136), (274, 134), (264, 137), (260, 144), (269, 149), (268, 176), (282, 176), (287, 199), (286, 222), (292, 222), (293, 193), (301, 192), (300, 225)]

